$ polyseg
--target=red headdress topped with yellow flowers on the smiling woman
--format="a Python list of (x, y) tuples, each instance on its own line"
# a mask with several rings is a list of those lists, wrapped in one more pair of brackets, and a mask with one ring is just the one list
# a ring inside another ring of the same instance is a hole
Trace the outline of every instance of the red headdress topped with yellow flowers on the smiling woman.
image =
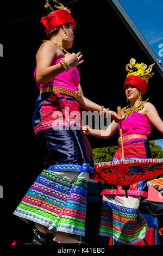
[(153, 76), (154, 73), (149, 74), (152, 71), (153, 65), (149, 66), (144, 63), (136, 63), (135, 59), (130, 59), (130, 63), (126, 65), (126, 71), (128, 71), (127, 78), (124, 82), (124, 89), (126, 89), (127, 84), (140, 89), (143, 94), (146, 93), (148, 88), (148, 79)]

